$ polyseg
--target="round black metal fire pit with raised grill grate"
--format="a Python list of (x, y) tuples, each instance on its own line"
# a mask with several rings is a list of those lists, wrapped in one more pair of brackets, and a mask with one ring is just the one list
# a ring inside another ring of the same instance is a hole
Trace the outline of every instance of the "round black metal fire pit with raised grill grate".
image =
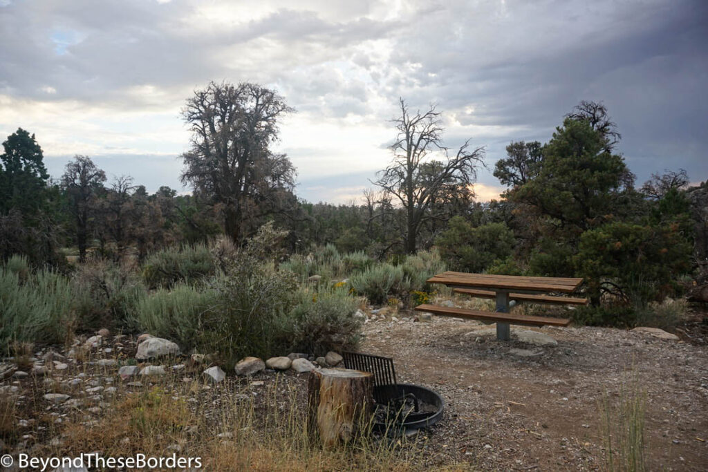
[(344, 352), (344, 365), (374, 374), (374, 427), (378, 431), (406, 432), (435, 425), (442, 418), (442, 397), (419, 385), (397, 384), (390, 357)]

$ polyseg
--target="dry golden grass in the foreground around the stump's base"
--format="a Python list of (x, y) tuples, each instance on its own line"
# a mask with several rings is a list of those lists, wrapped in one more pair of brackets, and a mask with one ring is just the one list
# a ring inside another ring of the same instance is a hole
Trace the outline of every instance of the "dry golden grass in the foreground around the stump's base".
[[(404, 439), (362, 436), (346, 447), (326, 450), (309, 437), (302, 391), (275, 381), (253, 395), (248, 386), (175, 379), (125, 393), (87, 425), (83, 413), (52, 425), (60, 445), (47, 453), (72, 456), (201, 457), (208, 470), (348, 471), (417, 470), (421, 452)], [(172, 389), (171, 389), (172, 388)]]

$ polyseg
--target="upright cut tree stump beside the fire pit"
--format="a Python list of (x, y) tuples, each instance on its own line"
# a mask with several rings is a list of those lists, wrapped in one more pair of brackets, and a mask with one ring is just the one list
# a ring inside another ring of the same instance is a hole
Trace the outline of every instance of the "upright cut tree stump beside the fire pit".
[(308, 381), (308, 430), (326, 448), (349, 442), (369, 425), (374, 376), (353, 369), (317, 369)]

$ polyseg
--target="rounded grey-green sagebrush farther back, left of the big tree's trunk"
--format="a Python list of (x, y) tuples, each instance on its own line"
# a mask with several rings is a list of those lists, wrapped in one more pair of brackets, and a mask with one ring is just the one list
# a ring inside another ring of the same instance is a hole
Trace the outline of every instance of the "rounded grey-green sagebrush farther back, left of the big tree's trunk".
[(215, 274), (215, 262), (207, 245), (172, 246), (148, 256), (142, 276), (151, 289), (193, 282)]

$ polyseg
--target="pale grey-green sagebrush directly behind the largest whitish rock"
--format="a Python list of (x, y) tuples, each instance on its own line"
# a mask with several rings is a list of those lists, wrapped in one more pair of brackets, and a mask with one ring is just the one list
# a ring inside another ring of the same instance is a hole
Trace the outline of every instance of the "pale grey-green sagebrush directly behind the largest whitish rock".
[(178, 282), (171, 290), (158, 289), (137, 306), (135, 323), (153, 335), (173, 340), (182, 347), (200, 345), (202, 318), (214, 309), (216, 292)]

